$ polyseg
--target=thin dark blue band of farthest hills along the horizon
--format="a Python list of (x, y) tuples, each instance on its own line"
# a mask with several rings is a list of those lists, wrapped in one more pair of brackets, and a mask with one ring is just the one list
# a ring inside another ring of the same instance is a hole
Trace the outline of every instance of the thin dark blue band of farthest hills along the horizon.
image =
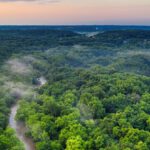
[(66, 25), (2, 25), (0, 30), (67, 30), (76, 32), (95, 32), (95, 31), (109, 31), (109, 30), (150, 30), (150, 26), (120, 26), (120, 25), (76, 25), (76, 26), (66, 26)]

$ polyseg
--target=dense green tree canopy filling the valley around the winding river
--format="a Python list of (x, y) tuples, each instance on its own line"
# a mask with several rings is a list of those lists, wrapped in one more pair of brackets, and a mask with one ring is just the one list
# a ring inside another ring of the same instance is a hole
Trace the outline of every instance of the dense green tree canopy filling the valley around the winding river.
[[(0, 149), (150, 149), (150, 31), (0, 31)], [(37, 86), (39, 77), (46, 84)]]

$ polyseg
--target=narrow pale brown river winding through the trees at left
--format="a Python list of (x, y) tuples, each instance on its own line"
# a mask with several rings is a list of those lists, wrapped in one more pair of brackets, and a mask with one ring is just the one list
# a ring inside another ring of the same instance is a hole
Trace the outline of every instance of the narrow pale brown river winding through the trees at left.
[[(46, 80), (43, 77), (39, 78), (38, 80), (40, 81), (40, 86), (46, 83)], [(27, 137), (25, 135), (27, 128), (24, 122), (16, 121), (15, 119), (18, 108), (19, 108), (18, 103), (16, 103), (15, 105), (11, 107), (11, 113), (9, 117), (9, 126), (15, 130), (16, 136), (24, 144), (25, 150), (35, 150), (35, 145), (34, 145), (32, 138)]]

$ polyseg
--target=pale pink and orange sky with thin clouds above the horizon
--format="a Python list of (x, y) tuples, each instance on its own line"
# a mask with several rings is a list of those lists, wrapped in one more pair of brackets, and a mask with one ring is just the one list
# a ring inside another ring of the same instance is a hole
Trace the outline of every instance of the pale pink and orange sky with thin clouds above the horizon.
[(0, 24), (150, 25), (150, 0), (0, 0)]

